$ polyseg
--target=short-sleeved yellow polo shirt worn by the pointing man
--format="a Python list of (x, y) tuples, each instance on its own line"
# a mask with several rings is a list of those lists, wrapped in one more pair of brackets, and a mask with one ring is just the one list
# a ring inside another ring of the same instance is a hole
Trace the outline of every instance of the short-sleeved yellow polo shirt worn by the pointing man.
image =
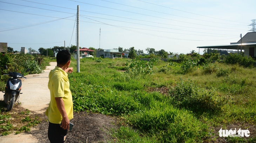
[(45, 115), (49, 122), (60, 124), (62, 116), (57, 107), (55, 97), (62, 97), (69, 120), (73, 118), (73, 100), (69, 89), (68, 74), (60, 67), (55, 67), (49, 73), (48, 88), (50, 90), (50, 103)]

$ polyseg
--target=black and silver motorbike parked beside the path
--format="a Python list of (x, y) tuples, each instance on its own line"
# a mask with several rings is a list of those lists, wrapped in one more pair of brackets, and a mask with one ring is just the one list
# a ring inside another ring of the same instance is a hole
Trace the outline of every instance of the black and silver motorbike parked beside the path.
[[(4, 69), (8, 69), (7, 66), (4, 66)], [(26, 72), (28, 72), (30, 69), (27, 69)], [(16, 103), (19, 98), (20, 94), (22, 94), (21, 91), (21, 80), (19, 78), (26, 79), (26, 77), (23, 76), (23, 74), (11, 72), (5, 73), (4, 75), (11, 76), (6, 82), (5, 91), (2, 91), (4, 94), (4, 101), (7, 104), (7, 111), (12, 110), (14, 103)], [(19, 102), (18, 102), (19, 103)], [(20, 103), (19, 103), (20, 104)]]

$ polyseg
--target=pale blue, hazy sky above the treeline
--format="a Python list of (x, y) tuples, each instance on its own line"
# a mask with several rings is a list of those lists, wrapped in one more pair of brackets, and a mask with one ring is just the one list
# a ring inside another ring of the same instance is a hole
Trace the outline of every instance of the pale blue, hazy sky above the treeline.
[(17, 51), (76, 45), (78, 5), (80, 47), (144, 53), (203, 54), (196, 47), (237, 42), (256, 19), (255, 0), (0, 0), (0, 42)]

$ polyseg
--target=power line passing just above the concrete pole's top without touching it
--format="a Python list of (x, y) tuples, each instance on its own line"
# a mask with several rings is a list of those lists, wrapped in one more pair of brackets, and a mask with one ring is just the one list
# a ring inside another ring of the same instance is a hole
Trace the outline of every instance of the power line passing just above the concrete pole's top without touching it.
[[(75, 0), (69, 0), (69, 1), (80, 2), (80, 1), (75, 1)], [(89, 4), (89, 3), (86, 3), (86, 2), (80, 2), (80, 3), (82, 3), (82, 4), (87, 4), (87, 5), (98, 6), (98, 7), (109, 8), (109, 9), (114, 9), (114, 10), (117, 10), (117, 11), (129, 12), (129, 13), (134, 13), (134, 14), (140, 14), (140, 15), (144, 15), (144, 16), (150, 16), (150, 17), (154, 17), (154, 18), (160, 18), (160, 19), (166, 19), (166, 20), (172, 20), (172, 21), (190, 23), (190, 24), (201, 25), (201, 26), (209, 26), (209, 25), (202, 25), (202, 24), (197, 24), (197, 23), (192, 23), (192, 22), (185, 22), (185, 21), (180, 21), (180, 20), (173, 20), (173, 19), (168, 19), (168, 18), (161, 18), (161, 17), (158, 17), (158, 16), (147, 15), (147, 14), (142, 14), (142, 13), (124, 11), (124, 10), (122, 10), (122, 9), (110, 8), (110, 7), (105, 7), (105, 6), (99, 6), (99, 5)], [(216, 27), (216, 26), (209, 26), (209, 27)], [(217, 28), (223, 28), (223, 27), (217, 27)]]

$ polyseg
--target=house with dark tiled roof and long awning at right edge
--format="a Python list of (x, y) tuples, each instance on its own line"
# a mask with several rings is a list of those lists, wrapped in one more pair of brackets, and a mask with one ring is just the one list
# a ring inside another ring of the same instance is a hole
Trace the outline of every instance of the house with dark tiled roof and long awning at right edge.
[(256, 57), (256, 32), (248, 32), (242, 37), (242, 39), (240, 39), (235, 43), (230, 43), (230, 45), (202, 46), (197, 48), (218, 49), (218, 50), (233, 49), (233, 50), (237, 50), (237, 52), (244, 50), (244, 55)]

